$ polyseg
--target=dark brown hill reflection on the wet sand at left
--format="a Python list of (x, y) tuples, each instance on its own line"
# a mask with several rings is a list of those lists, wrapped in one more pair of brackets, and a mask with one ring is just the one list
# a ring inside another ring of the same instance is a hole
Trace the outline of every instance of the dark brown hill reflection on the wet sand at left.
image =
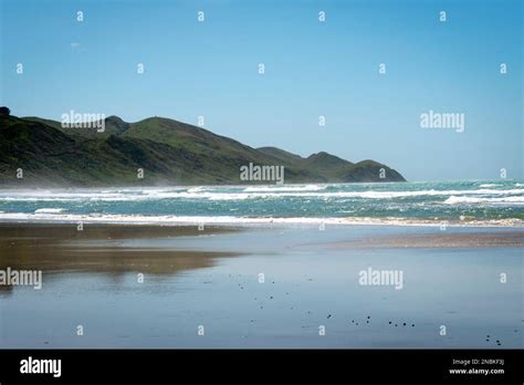
[[(172, 275), (185, 270), (209, 268), (218, 258), (238, 252), (188, 251), (177, 248), (178, 237), (209, 236), (233, 229), (208, 227), (0, 225), (0, 270), (42, 270), (45, 275), (63, 272), (106, 273), (112, 279), (129, 272)], [(171, 239), (149, 248), (133, 247), (129, 239)], [(0, 293), (12, 287), (0, 285)]]

